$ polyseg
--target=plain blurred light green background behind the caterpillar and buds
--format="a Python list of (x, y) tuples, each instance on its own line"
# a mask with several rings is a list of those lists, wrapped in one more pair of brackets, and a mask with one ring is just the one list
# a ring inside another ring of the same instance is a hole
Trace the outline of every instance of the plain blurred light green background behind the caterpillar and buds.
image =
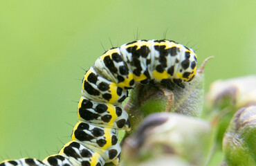
[[(84, 71), (136, 38), (194, 48), (210, 82), (256, 70), (256, 1), (0, 1), (0, 157), (43, 159), (70, 140)], [(68, 124), (69, 123), (69, 124)], [(60, 142), (60, 140), (62, 142)], [(0, 160), (1, 160), (0, 159)], [(219, 163), (221, 158), (216, 160)]]

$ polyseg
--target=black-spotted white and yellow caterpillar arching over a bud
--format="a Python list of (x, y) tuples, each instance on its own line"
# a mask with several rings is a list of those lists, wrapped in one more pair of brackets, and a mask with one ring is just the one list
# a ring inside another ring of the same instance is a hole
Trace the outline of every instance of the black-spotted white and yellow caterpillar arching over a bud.
[(122, 109), (128, 90), (156, 80), (184, 88), (196, 75), (192, 48), (162, 40), (136, 40), (107, 50), (86, 71), (82, 97), (71, 142), (59, 154), (43, 161), (35, 158), (4, 160), (0, 166), (100, 166), (120, 163), (118, 130), (130, 131), (128, 113)]

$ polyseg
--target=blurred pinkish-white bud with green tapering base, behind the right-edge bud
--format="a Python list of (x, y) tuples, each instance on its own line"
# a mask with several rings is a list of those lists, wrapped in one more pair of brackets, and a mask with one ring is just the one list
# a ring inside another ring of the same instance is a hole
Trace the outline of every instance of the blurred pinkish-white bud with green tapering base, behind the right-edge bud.
[(213, 82), (206, 102), (205, 114), (217, 124), (217, 147), (221, 149), (223, 134), (237, 109), (256, 104), (256, 75)]

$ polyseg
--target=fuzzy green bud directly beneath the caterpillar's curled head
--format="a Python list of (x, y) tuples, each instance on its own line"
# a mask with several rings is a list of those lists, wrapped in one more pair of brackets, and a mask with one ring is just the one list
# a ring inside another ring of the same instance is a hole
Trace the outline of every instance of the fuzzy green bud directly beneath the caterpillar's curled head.
[(138, 84), (125, 105), (125, 110), (132, 115), (129, 117), (132, 130), (136, 129), (150, 113), (174, 112), (186, 116), (201, 116), (204, 98), (203, 68), (208, 59), (205, 59), (196, 71), (192, 82), (183, 82), (185, 88), (179, 86), (170, 88), (168, 84), (163, 85), (154, 81), (147, 85)]

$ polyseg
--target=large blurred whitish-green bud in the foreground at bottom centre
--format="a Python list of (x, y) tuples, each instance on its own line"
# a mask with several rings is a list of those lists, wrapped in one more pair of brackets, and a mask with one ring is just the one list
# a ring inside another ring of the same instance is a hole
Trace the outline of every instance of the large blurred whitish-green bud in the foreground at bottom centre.
[(162, 158), (169, 156), (183, 160), (183, 165), (206, 165), (213, 133), (211, 124), (199, 118), (177, 113), (154, 113), (125, 140), (125, 163), (140, 165), (149, 160), (172, 163)]

